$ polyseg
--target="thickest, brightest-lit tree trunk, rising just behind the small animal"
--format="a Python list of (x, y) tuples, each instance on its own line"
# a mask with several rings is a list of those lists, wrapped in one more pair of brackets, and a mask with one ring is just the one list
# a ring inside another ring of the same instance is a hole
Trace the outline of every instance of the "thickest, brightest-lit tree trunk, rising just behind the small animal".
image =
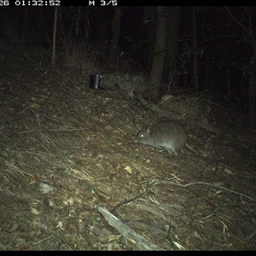
[(160, 90), (166, 49), (166, 7), (157, 7), (156, 44), (154, 49), (154, 61), (150, 73), (150, 96), (156, 99)]

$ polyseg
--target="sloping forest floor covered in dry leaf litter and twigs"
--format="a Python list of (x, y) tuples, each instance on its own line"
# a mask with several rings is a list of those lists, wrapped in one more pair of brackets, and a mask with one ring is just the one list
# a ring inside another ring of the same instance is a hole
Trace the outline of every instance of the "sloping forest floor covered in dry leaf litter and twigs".
[[(163, 250), (256, 249), (256, 132), (241, 116), (203, 96), (160, 102), (208, 155), (183, 148), (172, 160), (133, 143), (157, 115), (120, 91), (89, 89), (90, 73), (51, 72), (20, 55), (4, 55), (0, 70), (2, 250), (142, 248), (97, 207)], [(200, 128), (213, 118), (219, 132)]]

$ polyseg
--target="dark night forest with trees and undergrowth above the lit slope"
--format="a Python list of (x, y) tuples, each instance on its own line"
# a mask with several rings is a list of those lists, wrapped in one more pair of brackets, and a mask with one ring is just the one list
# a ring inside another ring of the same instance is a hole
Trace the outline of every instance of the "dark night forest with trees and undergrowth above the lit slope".
[(143, 73), (153, 101), (206, 91), (255, 125), (255, 23), (253, 6), (4, 7), (0, 38), (48, 50), (42, 65), (67, 66), (79, 50), (99, 73)]

